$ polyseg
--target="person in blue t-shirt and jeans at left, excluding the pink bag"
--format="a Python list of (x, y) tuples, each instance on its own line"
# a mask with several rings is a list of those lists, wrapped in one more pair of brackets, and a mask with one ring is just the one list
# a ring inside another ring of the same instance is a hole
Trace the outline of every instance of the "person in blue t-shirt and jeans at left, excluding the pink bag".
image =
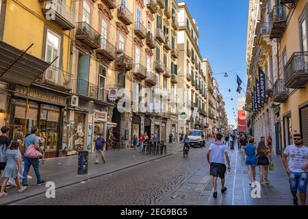
[(36, 151), (40, 151), (40, 147), (38, 146), (39, 140), (38, 140), (38, 127), (32, 127), (31, 128), (31, 135), (27, 136), (25, 138), (25, 155), (24, 155), (24, 162), (25, 162), (25, 169), (23, 170), (23, 181), (22, 184), (24, 187), (27, 187), (27, 177), (30, 170), (30, 167), (33, 166), (34, 172), (36, 174), (36, 182), (37, 185), (44, 185), (46, 183), (46, 180), (42, 179), (40, 175), (40, 160), (39, 157), (36, 158), (29, 158), (26, 156), (27, 149), (31, 144), (34, 144), (34, 147)]

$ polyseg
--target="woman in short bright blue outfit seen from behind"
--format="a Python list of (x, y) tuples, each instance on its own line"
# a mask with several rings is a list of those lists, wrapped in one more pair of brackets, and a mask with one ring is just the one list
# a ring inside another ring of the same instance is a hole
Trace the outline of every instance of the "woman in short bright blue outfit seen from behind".
[(255, 155), (257, 155), (257, 147), (253, 145), (255, 142), (255, 139), (251, 137), (248, 140), (248, 144), (245, 146), (244, 150), (246, 153), (246, 166), (248, 169), (248, 178), (249, 178), (249, 185), (253, 184), (255, 181), (255, 168), (257, 166), (257, 158)]

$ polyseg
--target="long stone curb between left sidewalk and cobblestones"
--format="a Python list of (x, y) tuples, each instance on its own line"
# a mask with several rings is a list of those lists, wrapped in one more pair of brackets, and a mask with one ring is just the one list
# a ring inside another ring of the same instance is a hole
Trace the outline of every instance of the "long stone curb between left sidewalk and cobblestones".
[[(114, 172), (120, 172), (121, 170), (126, 170), (126, 169), (128, 169), (128, 168), (132, 168), (132, 167), (134, 167), (134, 166), (139, 166), (139, 165), (141, 165), (141, 164), (146, 164), (146, 163), (148, 163), (148, 162), (152, 162), (152, 161), (157, 160), (157, 159), (162, 159), (162, 158), (164, 158), (164, 157), (169, 157), (169, 156), (171, 156), (171, 155), (173, 155), (173, 153), (170, 153), (169, 155), (163, 155), (162, 157), (157, 157), (157, 158), (155, 158), (155, 159), (149, 159), (149, 160), (147, 160), (147, 161), (145, 161), (145, 162), (141, 162), (141, 163), (138, 163), (138, 164), (133, 164), (133, 165), (130, 165), (130, 166), (125, 166), (124, 168), (120, 168), (120, 169), (118, 169), (118, 170), (113, 170), (113, 171), (110, 171), (110, 172), (105, 172), (105, 173), (103, 173), (103, 174), (101, 174), (101, 175), (97, 175), (97, 176), (94, 176), (94, 177), (90, 177), (90, 178), (88, 178), (88, 179), (84, 179), (84, 180), (81, 180), (81, 181), (76, 181), (76, 182), (74, 182), (74, 183), (68, 183), (67, 185), (62, 185), (62, 186), (60, 186), (59, 188), (56, 188), (55, 190), (60, 190), (60, 189), (62, 189), (62, 188), (66, 188), (66, 187), (68, 187), (68, 186), (70, 186), (70, 185), (76, 185), (76, 184), (81, 183), (81, 182), (83, 182), (83, 181), (88, 181), (88, 180), (91, 180), (91, 179), (96, 179), (96, 178), (99, 178), (99, 177), (103, 177), (103, 176), (105, 176), (105, 175), (110, 175), (110, 174), (112, 174), (112, 173), (114, 173)], [(28, 199), (28, 198), (33, 198), (33, 197), (35, 197), (35, 196), (39, 196), (39, 195), (44, 194), (44, 193), (45, 193), (45, 192), (37, 192), (36, 194), (31, 194), (31, 195), (25, 196), (25, 197), (23, 197), (23, 198), (18, 198), (18, 199), (14, 200), (14, 201), (8, 201), (8, 202), (6, 202), (6, 203), (2, 203), (1, 205), (10, 205), (10, 204), (13, 204), (13, 203), (17, 203), (18, 201), (23, 201), (23, 200), (26, 200), (26, 199)]]

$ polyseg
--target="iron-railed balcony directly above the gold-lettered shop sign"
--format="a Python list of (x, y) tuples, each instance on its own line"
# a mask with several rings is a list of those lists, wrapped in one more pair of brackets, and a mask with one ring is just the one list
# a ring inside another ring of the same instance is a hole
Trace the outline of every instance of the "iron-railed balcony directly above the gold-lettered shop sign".
[(43, 75), (36, 80), (36, 83), (41, 83), (57, 90), (70, 91), (72, 90), (72, 80), (73, 75), (55, 66), (49, 66)]

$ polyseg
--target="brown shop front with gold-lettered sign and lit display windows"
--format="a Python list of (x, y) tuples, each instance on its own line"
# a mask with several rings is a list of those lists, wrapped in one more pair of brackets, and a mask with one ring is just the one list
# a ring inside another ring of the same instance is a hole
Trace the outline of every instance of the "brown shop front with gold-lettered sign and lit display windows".
[[(26, 94), (28, 93), (28, 101)], [(31, 86), (25, 90), (16, 86), (10, 108), (12, 136), (16, 131), (29, 133), (38, 127), (44, 138), (45, 158), (58, 157), (62, 149), (63, 117), (67, 94)]]

